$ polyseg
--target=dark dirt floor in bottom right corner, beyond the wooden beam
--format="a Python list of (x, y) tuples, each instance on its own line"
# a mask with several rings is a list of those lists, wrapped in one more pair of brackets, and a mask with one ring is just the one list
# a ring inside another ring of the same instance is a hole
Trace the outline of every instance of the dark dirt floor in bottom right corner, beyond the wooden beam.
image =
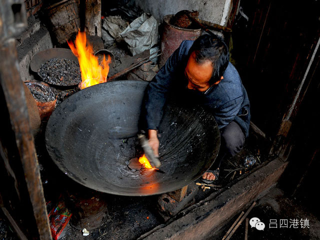
[[(237, 217), (238, 215), (234, 216), (223, 229), (207, 239), (222, 239)], [(247, 239), (320, 239), (319, 219), (305, 205), (302, 205), (296, 199), (286, 196), (277, 187), (271, 189), (264, 197), (257, 201), (257, 205), (247, 215), (249, 220), (253, 217), (259, 218), (265, 224), (265, 228), (257, 230), (255, 227), (251, 227), (249, 223)], [(280, 221), (282, 223), (281, 227)], [(244, 239), (244, 236), (245, 220), (234, 232), (231, 239)]]

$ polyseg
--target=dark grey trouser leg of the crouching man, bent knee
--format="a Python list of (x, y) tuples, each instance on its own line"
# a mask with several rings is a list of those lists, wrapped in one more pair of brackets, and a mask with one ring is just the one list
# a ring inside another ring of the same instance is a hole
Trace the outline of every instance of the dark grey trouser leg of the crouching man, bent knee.
[(235, 121), (220, 129), (220, 137), (219, 154), (212, 165), (214, 169), (220, 167), (224, 158), (238, 153), (243, 147), (245, 138), (241, 127)]

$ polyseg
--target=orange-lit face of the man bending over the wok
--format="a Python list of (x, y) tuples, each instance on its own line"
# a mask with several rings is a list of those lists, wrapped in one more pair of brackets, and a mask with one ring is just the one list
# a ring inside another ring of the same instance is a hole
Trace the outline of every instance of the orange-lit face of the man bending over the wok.
[(192, 52), (184, 69), (185, 77), (188, 79), (187, 88), (197, 91), (206, 91), (212, 75), (212, 63), (207, 60), (202, 63), (195, 61), (195, 53)]

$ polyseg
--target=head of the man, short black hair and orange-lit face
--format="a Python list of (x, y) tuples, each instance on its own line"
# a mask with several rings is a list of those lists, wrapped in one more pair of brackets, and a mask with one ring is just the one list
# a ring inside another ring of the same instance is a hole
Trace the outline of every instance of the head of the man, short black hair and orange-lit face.
[(199, 36), (189, 50), (184, 74), (189, 89), (206, 91), (218, 84), (229, 62), (226, 44), (215, 35)]

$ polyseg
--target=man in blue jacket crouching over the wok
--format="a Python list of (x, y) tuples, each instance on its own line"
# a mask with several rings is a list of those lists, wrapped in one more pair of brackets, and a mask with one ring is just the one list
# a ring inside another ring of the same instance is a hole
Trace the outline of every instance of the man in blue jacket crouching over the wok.
[(194, 42), (182, 41), (148, 85), (146, 123), (155, 155), (158, 155), (157, 128), (165, 101), (170, 92), (179, 94), (184, 89), (187, 98), (212, 112), (219, 127), (221, 145), (217, 164), (213, 171), (202, 175), (204, 180), (216, 180), (221, 160), (241, 150), (250, 122), (247, 93), (229, 62), (226, 44), (217, 36), (205, 34)]

